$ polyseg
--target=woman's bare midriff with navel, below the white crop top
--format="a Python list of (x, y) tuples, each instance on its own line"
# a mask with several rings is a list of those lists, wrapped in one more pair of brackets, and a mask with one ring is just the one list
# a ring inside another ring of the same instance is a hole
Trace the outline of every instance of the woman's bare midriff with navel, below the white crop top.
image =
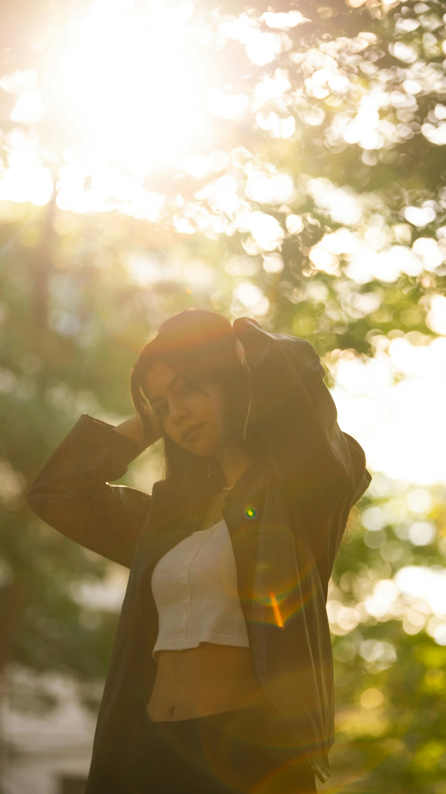
[(252, 707), (261, 696), (249, 648), (201, 642), (159, 652), (147, 713), (155, 722), (194, 719)]

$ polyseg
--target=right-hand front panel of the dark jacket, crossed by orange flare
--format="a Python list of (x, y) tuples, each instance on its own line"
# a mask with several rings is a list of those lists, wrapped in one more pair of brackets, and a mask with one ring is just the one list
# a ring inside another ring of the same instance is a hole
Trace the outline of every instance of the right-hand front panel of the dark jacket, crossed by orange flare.
[[(314, 599), (326, 620), (325, 600), (298, 517), (292, 528), (281, 490), (279, 472), (271, 463), (251, 491), (231, 491), (223, 515), (233, 543), (254, 673), (310, 756), (321, 750), (317, 737), (325, 734), (307, 609)], [(309, 724), (314, 728), (310, 733)]]

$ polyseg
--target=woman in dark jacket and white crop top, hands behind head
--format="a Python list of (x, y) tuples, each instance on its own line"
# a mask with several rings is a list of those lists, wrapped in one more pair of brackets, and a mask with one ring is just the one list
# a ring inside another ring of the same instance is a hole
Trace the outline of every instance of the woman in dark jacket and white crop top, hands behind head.
[[(206, 310), (167, 319), (136, 416), (83, 415), (29, 491), (41, 518), (130, 569), (87, 794), (315, 792), (329, 777), (325, 601), (371, 480), (311, 345)], [(109, 485), (163, 437), (152, 495)]]

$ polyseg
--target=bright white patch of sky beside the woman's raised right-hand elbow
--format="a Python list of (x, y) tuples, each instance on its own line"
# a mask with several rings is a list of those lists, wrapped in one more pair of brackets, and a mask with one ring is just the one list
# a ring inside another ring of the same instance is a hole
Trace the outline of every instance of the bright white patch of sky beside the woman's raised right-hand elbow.
[(340, 427), (359, 441), (372, 470), (446, 485), (446, 337), (420, 341), (380, 337), (373, 359), (341, 358), (332, 394)]

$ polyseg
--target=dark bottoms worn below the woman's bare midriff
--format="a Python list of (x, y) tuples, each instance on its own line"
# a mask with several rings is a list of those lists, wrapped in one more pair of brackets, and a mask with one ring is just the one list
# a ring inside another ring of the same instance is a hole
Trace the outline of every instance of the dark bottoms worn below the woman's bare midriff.
[(122, 794), (316, 794), (310, 763), (269, 701), (176, 722), (144, 711), (125, 750)]

